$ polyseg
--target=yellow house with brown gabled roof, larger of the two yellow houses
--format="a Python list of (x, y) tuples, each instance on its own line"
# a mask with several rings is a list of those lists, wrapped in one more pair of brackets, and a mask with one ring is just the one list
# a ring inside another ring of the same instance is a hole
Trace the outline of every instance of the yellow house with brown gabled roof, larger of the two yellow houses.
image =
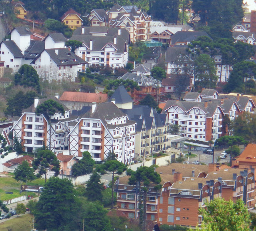
[(60, 20), (71, 29), (76, 29), (77, 27), (82, 26), (83, 21), (81, 14), (71, 8), (60, 17)]

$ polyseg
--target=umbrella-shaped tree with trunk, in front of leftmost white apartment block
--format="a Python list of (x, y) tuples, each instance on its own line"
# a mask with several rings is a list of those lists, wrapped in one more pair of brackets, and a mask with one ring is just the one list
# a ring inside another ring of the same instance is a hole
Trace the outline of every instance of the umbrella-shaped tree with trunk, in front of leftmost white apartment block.
[(36, 107), (36, 114), (39, 116), (40, 114), (43, 114), (49, 124), (50, 127), (50, 134), (49, 134), (49, 150), (51, 151), (52, 148), (51, 147), (51, 138), (52, 138), (52, 125), (51, 125), (51, 116), (53, 116), (55, 113), (60, 113), (62, 115), (65, 114), (65, 110), (64, 107), (62, 106), (62, 104), (59, 104), (57, 101), (55, 100), (46, 100), (45, 102), (43, 102), (42, 104), (38, 105)]

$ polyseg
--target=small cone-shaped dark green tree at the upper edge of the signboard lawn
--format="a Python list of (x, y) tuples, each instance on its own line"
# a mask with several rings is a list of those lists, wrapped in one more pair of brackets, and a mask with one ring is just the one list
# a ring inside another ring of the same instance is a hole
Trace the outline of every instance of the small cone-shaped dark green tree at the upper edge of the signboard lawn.
[(34, 169), (29, 166), (28, 161), (23, 161), (22, 164), (18, 165), (18, 167), (14, 170), (14, 177), (16, 181), (22, 181), (27, 183), (27, 181), (32, 181), (36, 179), (36, 175), (34, 174)]

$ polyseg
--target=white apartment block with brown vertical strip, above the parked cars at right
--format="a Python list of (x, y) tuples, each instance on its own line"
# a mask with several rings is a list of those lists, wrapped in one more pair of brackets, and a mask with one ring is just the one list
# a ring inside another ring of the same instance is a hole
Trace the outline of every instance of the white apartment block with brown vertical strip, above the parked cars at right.
[(224, 112), (214, 102), (168, 100), (162, 114), (168, 114), (170, 124), (181, 126), (183, 136), (214, 141), (222, 135)]

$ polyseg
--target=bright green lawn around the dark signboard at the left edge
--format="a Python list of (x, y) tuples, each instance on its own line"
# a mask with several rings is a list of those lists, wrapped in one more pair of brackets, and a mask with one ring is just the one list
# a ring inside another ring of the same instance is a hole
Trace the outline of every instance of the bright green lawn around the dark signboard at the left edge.
[[(12, 175), (12, 174), (9, 174)], [(24, 184), (24, 183), (22, 183)], [(27, 183), (30, 186), (36, 186), (36, 185), (44, 185), (44, 179), (38, 178), (35, 179), (32, 182)], [(6, 194), (5, 192), (13, 192), (13, 194)], [(20, 197), (22, 195), (26, 195), (26, 192), (22, 192), (20, 194), (20, 182), (17, 182), (12, 177), (0, 177), (0, 198), (1, 200), (10, 200), (16, 197)], [(33, 197), (36, 197), (36, 193), (27, 192), (27, 195), (33, 195)]]

